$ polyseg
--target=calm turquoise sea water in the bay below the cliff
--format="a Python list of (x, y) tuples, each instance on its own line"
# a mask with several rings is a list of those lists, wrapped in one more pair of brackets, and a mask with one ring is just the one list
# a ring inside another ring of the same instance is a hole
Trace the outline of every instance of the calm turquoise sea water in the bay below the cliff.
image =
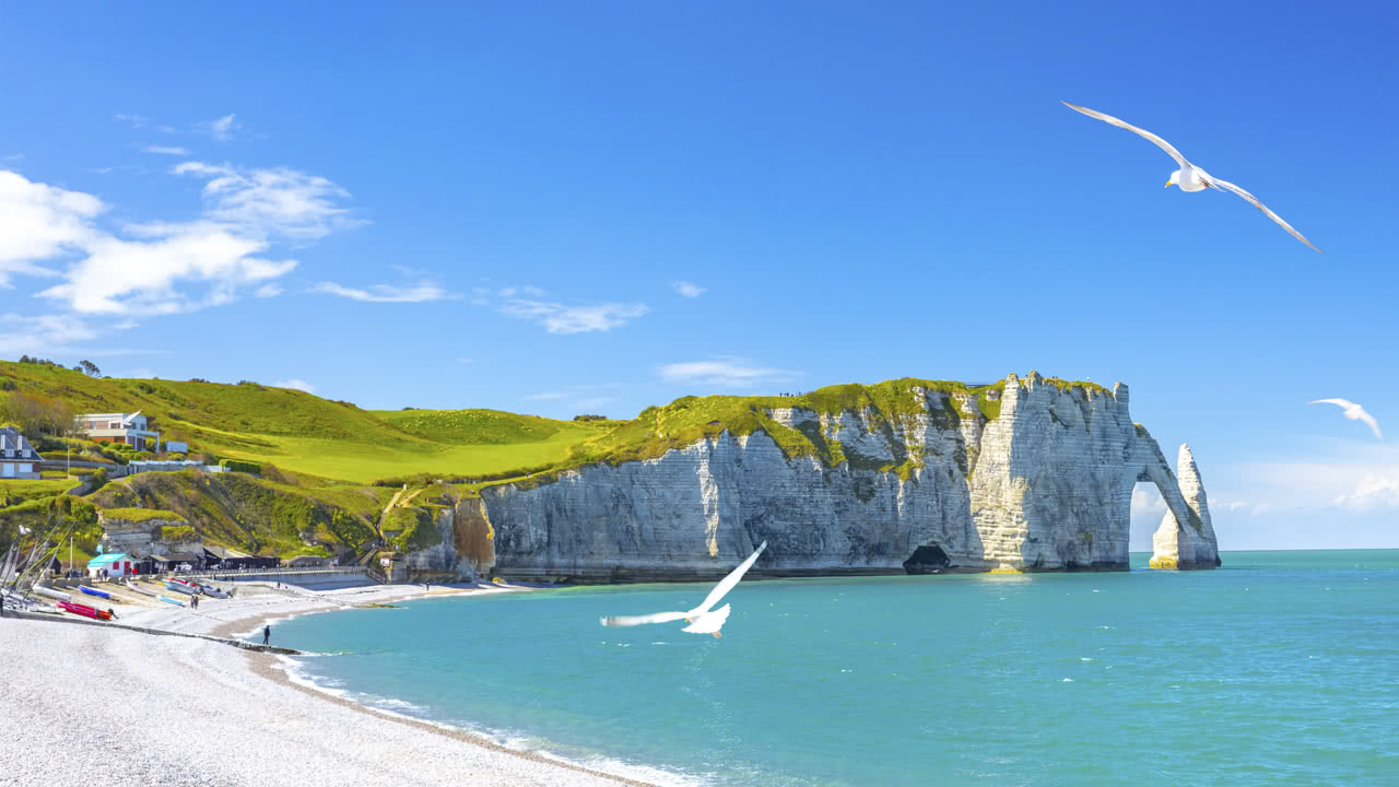
[(746, 581), (722, 640), (597, 623), (706, 585), (424, 599), (276, 640), (336, 654), (301, 669), (368, 704), (697, 783), (1399, 784), (1399, 550), (1223, 559)]

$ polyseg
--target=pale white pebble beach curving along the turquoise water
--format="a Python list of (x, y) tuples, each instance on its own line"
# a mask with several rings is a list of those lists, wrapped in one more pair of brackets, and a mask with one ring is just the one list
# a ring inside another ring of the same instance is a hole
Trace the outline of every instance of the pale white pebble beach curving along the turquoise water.
[[(431, 595), (467, 592), (509, 591)], [(241, 587), (199, 611), (112, 606), (122, 625), (215, 637), (270, 620), (276, 646), (277, 619), (421, 595)], [(210, 639), (7, 616), (0, 665), (4, 784), (642, 784), (358, 706), (291, 682), (277, 655)]]

